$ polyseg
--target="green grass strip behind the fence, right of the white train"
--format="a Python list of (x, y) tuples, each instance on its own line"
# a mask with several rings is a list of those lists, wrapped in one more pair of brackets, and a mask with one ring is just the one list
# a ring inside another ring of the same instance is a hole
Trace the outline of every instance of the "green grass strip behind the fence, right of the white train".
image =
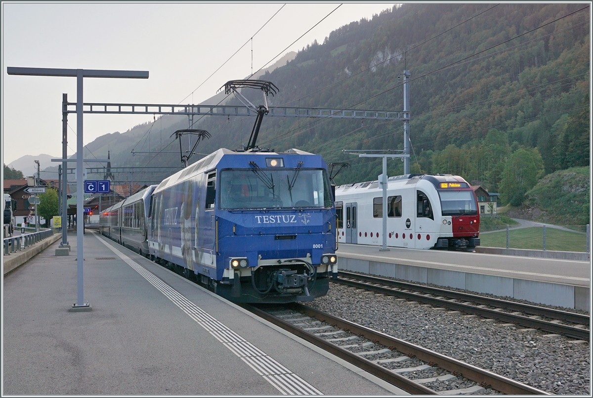
[[(531, 227), (509, 230), (509, 248), (543, 249), (543, 227)], [(480, 234), (481, 246), (506, 248), (506, 231)], [(584, 233), (546, 228), (546, 250), (565, 252), (586, 252)]]

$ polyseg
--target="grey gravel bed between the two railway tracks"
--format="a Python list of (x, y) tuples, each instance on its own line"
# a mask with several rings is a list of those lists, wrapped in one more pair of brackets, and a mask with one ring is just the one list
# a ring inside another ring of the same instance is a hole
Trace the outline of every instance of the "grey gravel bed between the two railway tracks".
[(591, 395), (589, 343), (435, 311), (339, 284), (331, 284), (327, 296), (308, 305), (549, 393)]

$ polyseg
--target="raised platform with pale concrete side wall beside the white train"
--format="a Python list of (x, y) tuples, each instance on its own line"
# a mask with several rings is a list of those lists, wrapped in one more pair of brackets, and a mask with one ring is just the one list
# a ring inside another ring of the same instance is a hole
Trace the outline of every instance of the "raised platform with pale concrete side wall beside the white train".
[(589, 311), (591, 262), (340, 243), (338, 268)]

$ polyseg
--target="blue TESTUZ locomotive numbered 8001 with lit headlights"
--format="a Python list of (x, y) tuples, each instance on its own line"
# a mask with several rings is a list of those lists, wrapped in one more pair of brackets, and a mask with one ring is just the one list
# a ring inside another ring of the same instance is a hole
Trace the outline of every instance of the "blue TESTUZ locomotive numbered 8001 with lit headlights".
[(327, 165), (297, 149), (219, 149), (155, 188), (148, 245), (232, 301), (324, 296), (337, 276)]

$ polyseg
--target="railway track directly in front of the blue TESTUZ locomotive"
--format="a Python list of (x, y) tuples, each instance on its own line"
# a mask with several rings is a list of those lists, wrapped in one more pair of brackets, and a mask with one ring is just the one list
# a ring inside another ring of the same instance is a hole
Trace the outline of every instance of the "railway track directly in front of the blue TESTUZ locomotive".
[(302, 304), (245, 307), (411, 394), (549, 394)]

